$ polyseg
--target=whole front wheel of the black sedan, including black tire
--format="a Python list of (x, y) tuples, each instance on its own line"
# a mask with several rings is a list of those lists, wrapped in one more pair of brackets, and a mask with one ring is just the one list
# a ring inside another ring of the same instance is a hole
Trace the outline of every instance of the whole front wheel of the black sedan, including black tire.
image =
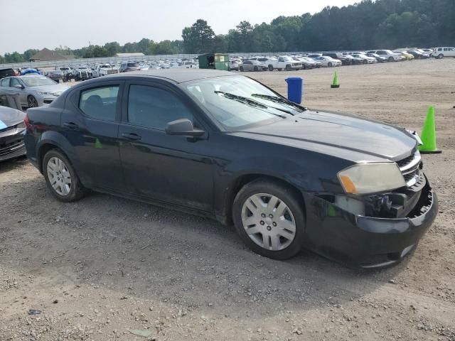
[[(269, 205), (270, 201), (266, 201), (274, 200), (275, 208), (272, 210), (272, 206), (261, 206), (259, 210), (255, 210), (252, 198), (256, 202), (261, 200), (262, 205)], [(252, 215), (248, 207), (252, 207), (256, 215)], [(305, 220), (301, 207), (301, 200), (292, 188), (273, 180), (259, 178), (237, 193), (232, 207), (232, 218), (240, 238), (252, 251), (271, 259), (289, 259), (298, 254), (304, 244)], [(272, 213), (279, 210), (284, 212), (283, 215), (273, 217)], [(244, 222), (249, 219), (254, 225), (245, 229)], [(255, 224), (255, 221), (258, 223)], [(258, 232), (253, 232), (253, 229)], [(264, 248), (265, 245), (267, 247)]]

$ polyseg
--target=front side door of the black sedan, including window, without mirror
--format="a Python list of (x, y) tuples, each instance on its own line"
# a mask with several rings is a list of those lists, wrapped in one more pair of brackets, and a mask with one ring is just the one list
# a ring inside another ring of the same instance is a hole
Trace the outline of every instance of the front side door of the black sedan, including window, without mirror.
[[(169, 121), (204, 127), (195, 104), (162, 82), (127, 82), (119, 128), (120, 158), (129, 192), (162, 202), (213, 210), (213, 163), (208, 135), (167, 135)], [(204, 129), (207, 131), (206, 129)]]

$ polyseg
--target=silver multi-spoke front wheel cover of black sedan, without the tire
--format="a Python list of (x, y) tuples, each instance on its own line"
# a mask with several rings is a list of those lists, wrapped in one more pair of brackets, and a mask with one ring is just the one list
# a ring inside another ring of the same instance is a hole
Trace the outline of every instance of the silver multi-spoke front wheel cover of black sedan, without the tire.
[(248, 237), (263, 249), (286, 249), (296, 237), (296, 220), (285, 202), (274, 195), (258, 193), (245, 200), (242, 224)]

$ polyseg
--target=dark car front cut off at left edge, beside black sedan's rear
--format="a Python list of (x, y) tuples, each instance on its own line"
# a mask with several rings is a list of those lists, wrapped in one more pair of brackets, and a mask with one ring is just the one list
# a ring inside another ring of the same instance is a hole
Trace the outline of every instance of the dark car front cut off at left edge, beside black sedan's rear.
[(18, 109), (0, 106), (0, 161), (26, 155), (23, 132), (26, 114)]

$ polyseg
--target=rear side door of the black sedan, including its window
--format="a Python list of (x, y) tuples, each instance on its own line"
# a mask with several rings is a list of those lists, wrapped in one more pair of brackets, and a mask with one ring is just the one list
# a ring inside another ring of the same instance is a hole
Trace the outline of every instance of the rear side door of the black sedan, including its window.
[(70, 94), (61, 116), (62, 134), (82, 183), (125, 192), (117, 133), (124, 82), (98, 82)]

